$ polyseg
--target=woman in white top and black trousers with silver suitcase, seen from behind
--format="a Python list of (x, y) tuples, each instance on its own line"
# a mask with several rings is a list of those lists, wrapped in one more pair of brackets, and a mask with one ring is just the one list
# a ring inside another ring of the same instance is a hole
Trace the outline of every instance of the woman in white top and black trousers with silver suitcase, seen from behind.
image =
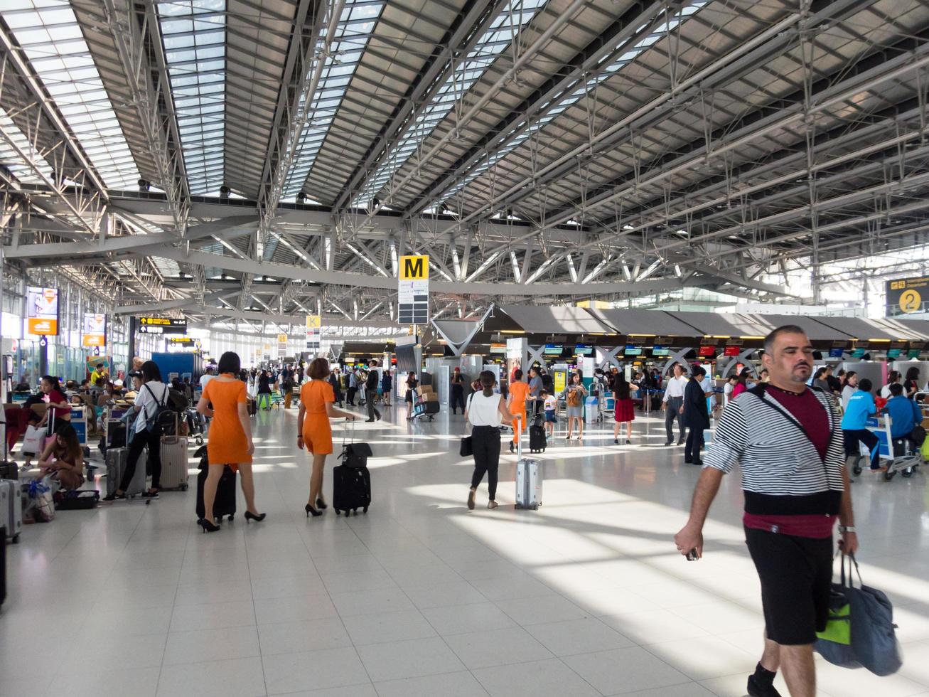
[(471, 491), (467, 494), (467, 507), (474, 510), (474, 497), (478, 492), (480, 480), (487, 472), (490, 488), (488, 508), (496, 508), (494, 500), (497, 495), (497, 468), (500, 467), (500, 425), (512, 422), (513, 415), (506, 408), (506, 403), (499, 393), (493, 391), (497, 379), (489, 370), (480, 374), (480, 386), (483, 391), (474, 392), (468, 398), (464, 409), (464, 419), (471, 424), (471, 450), (474, 454), (474, 475), (471, 477)]

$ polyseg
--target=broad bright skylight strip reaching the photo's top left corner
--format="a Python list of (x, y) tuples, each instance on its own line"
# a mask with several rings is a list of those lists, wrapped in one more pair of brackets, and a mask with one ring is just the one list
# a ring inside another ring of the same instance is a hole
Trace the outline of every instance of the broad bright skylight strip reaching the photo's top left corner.
[(67, 0), (3, 0), (0, 7), (103, 183), (111, 189), (135, 186), (136, 163)]

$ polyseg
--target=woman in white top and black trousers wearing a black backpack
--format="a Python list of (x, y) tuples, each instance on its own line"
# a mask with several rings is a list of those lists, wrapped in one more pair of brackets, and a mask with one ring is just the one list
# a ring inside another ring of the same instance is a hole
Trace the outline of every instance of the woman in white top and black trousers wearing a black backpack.
[(154, 361), (142, 363), (141, 373), (142, 387), (139, 388), (136, 401), (133, 403), (133, 409), (137, 414), (132, 428), (134, 435), (129, 443), (123, 479), (120, 480), (119, 488), (114, 493), (104, 496), (104, 501), (125, 498), (125, 490), (129, 488), (132, 477), (136, 474), (138, 458), (141, 457), (146, 445), (149, 446), (149, 462), (151, 463), (151, 488), (142, 495), (157, 498), (158, 490), (161, 489), (162, 429), (157, 425), (149, 428), (149, 419), (154, 418), (160, 404), (166, 403), (168, 387), (162, 382), (162, 373)]

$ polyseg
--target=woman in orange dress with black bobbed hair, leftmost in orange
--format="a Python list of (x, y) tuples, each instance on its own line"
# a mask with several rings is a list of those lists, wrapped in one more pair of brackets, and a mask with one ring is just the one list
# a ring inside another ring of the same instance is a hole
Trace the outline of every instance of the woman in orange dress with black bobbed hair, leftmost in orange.
[[(248, 417), (248, 395), (245, 383), (236, 375), (242, 369), (239, 354), (227, 351), (219, 359), (216, 377), (206, 383), (197, 411), (212, 416), (206, 441), (206, 456), (210, 466), (203, 482), (203, 511), (206, 518), (200, 525), (204, 533), (216, 533), (219, 525), (213, 519), (216, 486), (222, 477), (223, 467), (238, 470), (245, 495), (245, 520), (264, 520), (265, 514), (255, 507), (255, 480), (252, 478), (252, 421)], [(212, 408), (210, 406), (212, 402)]]

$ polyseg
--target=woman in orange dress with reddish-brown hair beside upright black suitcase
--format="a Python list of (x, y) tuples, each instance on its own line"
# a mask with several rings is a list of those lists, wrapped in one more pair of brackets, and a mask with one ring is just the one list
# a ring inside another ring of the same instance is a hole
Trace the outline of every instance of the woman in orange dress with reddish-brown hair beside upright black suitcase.
[(296, 415), (296, 447), (313, 455), (313, 469), (309, 475), (309, 501), (304, 510), (307, 518), (322, 515), (326, 502), (322, 498), (322, 472), (326, 455), (333, 452), (333, 427), (329, 419), (345, 416), (354, 421), (355, 414), (333, 406), (335, 393), (329, 384), (329, 362), (318, 358), (307, 369), (309, 382), (300, 388), (300, 411)]

